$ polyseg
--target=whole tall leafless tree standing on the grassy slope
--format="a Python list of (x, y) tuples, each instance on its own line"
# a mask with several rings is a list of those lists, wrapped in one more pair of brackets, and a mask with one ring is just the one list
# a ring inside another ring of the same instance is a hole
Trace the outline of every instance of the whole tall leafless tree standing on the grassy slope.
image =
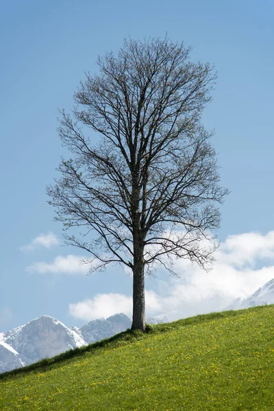
[[(60, 119), (73, 158), (62, 159), (49, 203), (64, 229), (84, 227), (64, 237), (88, 251), (90, 271), (110, 263), (132, 270), (132, 329), (145, 330), (146, 273), (162, 264), (175, 274), (175, 258), (205, 269), (216, 248), (210, 231), (227, 190), (212, 132), (200, 123), (216, 74), (189, 53), (168, 38), (125, 40), (118, 55), (98, 59), (99, 75), (86, 74), (72, 114)], [(92, 144), (94, 132), (101, 139)]]

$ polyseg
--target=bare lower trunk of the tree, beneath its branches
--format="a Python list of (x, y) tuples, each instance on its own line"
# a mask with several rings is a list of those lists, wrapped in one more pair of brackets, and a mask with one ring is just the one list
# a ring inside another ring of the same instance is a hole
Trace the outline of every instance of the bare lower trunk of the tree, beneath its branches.
[(134, 266), (133, 271), (132, 329), (145, 331), (145, 272), (142, 261)]

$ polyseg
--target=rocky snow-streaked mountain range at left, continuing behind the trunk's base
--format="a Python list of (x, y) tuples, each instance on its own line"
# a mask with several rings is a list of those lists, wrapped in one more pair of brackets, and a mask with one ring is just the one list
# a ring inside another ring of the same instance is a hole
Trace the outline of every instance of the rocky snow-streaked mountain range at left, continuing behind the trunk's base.
[[(155, 316), (147, 322), (157, 324), (166, 321), (169, 321), (166, 316)], [(108, 338), (131, 325), (132, 321), (123, 313), (72, 329), (51, 316), (40, 316), (11, 331), (0, 333), (0, 373)]]

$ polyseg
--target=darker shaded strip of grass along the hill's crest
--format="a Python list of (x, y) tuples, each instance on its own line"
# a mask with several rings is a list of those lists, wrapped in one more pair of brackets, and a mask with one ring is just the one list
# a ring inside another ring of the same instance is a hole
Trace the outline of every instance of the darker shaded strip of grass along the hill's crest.
[(188, 319), (182, 319), (173, 321), (173, 323), (164, 323), (164, 324), (157, 324), (151, 325), (147, 324), (146, 332), (142, 332), (140, 330), (132, 330), (127, 329), (124, 332), (119, 334), (115, 334), (110, 338), (105, 338), (105, 340), (97, 341), (96, 343), (92, 343), (90, 345), (85, 345), (84, 347), (70, 349), (69, 351), (65, 351), (64, 353), (59, 354), (53, 358), (44, 358), (39, 362), (35, 362), (34, 364), (30, 364), (24, 366), (23, 368), (14, 369), (12, 371), (7, 371), (5, 373), (0, 374), (0, 380), (6, 379), (8, 377), (12, 377), (13, 375), (17, 374), (24, 374), (29, 373), (30, 371), (46, 371), (49, 366), (53, 366), (54, 364), (58, 364), (65, 360), (69, 360), (75, 356), (82, 356), (86, 352), (92, 352), (99, 348), (103, 347), (118, 347), (124, 343), (131, 343), (136, 339), (143, 338), (146, 334), (162, 334), (165, 332), (170, 332), (173, 329), (177, 329), (179, 327), (186, 327), (188, 325), (197, 325), (199, 323), (206, 323), (208, 321), (223, 319), (227, 316), (239, 316), (243, 313), (247, 313), (254, 310), (264, 310), (266, 307), (274, 307), (271, 306), (258, 306), (253, 308), (246, 308), (243, 310), (232, 310), (232, 311), (223, 311), (223, 312), (211, 312), (210, 314), (201, 314), (197, 316), (189, 317)]

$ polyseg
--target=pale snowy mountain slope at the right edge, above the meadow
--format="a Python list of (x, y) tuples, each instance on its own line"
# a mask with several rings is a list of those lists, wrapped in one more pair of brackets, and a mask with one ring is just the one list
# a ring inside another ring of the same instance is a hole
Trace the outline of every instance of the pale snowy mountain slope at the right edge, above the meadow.
[(227, 310), (240, 310), (241, 308), (249, 308), (255, 306), (266, 306), (267, 304), (274, 304), (274, 278), (258, 288), (249, 297), (242, 299), (237, 298)]

